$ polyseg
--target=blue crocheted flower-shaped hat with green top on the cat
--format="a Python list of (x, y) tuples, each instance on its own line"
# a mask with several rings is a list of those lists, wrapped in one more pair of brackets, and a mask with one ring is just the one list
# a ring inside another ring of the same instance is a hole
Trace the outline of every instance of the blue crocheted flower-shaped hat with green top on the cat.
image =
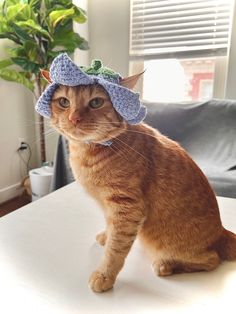
[(115, 110), (129, 124), (138, 124), (146, 116), (147, 109), (140, 104), (139, 94), (119, 84), (121, 77), (118, 73), (102, 66), (101, 61), (95, 60), (91, 67), (78, 67), (66, 53), (57, 56), (50, 67), (51, 84), (38, 99), (35, 109), (50, 118), (50, 102), (59, 85), (78, 86), (100, 84), (110, 96)]

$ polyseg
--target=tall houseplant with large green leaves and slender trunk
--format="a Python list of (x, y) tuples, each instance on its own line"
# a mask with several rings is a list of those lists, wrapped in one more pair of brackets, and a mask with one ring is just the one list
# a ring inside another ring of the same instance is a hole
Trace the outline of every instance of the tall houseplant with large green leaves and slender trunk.
[[(88, 49), (87, 41), (73, 31), (73, 22), (84, 23), (86, 13), (71, 0), (5, 0), (0, 3), (0, 38), (14, 43), (7, 49), (9, 58), (0, 60), (0, 77), (23, 84), (37, 99), (46, 87), (40, 69), (48, 69), (59, 53)], [(41, 116), (39, 127), (41, 162), (44, 162)]]

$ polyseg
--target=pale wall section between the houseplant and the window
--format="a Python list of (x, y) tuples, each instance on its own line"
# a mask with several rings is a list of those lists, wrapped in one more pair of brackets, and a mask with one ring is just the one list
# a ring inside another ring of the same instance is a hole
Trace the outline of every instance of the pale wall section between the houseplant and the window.
[(128, 75), (129, 0), (89, 0), (88, 4), (90, 58)]

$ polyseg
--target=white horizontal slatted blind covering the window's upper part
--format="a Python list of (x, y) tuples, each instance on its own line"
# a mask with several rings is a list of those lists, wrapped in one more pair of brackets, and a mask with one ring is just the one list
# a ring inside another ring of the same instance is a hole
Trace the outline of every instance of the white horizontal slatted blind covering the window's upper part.
[(226, 52), (233, 0), (131, 0), (130, 55)]

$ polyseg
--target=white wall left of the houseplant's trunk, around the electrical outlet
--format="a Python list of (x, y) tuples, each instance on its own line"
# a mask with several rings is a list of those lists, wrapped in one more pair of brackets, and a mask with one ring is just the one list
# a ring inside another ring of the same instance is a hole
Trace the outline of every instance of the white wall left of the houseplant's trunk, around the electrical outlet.
[[(0, 59), (7, 41), (0, 41)], [(0, 203), (21, 193), (26, 168), (17, 154), (19, 138), (32, 149), (31, 165), (36, 164), (34, 108), (31, 93), (23, 86), (0, 79)], [(27, 159), (26, 153), (24, 156)]]

